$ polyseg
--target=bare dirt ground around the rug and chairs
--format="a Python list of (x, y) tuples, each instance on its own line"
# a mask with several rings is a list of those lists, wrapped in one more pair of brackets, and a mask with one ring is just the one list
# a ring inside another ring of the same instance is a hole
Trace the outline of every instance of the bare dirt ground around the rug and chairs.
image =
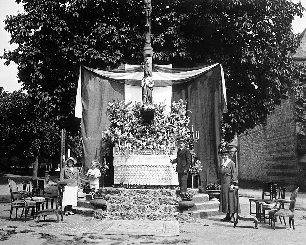
[[(224, 215), (217, 215), (205, 219), (197, 219), (195, 223), (180, 223), (180, 235), (176, 237), (156, 236), (123, 236), (123, 235), (88, 235), (83, 232), (91, 226), (101, 222), (87, 216), (64, 216), (63, 222), (57, 223), (56, 216), (47, 216), (46, 221), (17, 219), (8, 221), (10, 212), (9, 187), (7, 178), (14, 179), (21, 188), (21, 181), (31, 177), (0, 174), (0, 245), (69, 245), (69, 244), (97, 244), (97, 245), (137, 245), (137, 244), (256, 244), (256, 245), (305, 245), (306, 243), (306, 193), (299, 192), (295, 210), (295, 231), (287, 226), (276, 223), (276, 230), (264, 222), (254, 228), (250, 221), (239, 221), (237, 227), (233, 224), (221, 222)], [(56, 188), (46, 185), (46, 195)], [(286, 198), (289, 198), (291, 190)], [(248, 214), (249, 198), (259, 198), (260, 189), (246, 189), (240, 186), (241, 213)], [(13, 214), (15, 213), (15, 209)], [(13, 216), (12, 214), (12, 216)]]

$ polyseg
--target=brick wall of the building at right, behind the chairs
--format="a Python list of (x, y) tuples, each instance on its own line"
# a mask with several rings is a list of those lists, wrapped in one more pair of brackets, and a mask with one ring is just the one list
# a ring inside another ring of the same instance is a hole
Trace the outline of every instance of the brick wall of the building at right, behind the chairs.
[(289, 98), (268, 116), (266, 126), (256, 126), (238, 137), (238, 177), (251, 181), (296, 184), (294, 100)]

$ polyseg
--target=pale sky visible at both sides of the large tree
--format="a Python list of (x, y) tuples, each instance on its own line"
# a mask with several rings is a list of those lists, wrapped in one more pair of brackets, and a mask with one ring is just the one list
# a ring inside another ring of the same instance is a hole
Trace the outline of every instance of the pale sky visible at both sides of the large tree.
[[(299, 0), (292, 0), (297, 3)], [(306, 8), (306, 0), (301, 0), (302, 6)], [(4, 20), (7, 15), (17, 14), (17, 11), (23, 12), (21, 4), (17, 4), (15, 0), (0, 0), (0, 55), (3, 55), (4, 49), (14, 50), (17, 45), (9, 44), (10, 35), (4, 30)], [(306, 28), (306, 11), (304, 11), (304, 17), (296, 17), (292, 23), (292, 28), (295, 33), (301, 33)], [(22, 88), (22, 85), (17, 83), (17, 65), (11, 63), (10, 65), (4, 65), (5, 60), (0, 59), (0, 87), (3, 87), (6, 91), (13, 92)]]

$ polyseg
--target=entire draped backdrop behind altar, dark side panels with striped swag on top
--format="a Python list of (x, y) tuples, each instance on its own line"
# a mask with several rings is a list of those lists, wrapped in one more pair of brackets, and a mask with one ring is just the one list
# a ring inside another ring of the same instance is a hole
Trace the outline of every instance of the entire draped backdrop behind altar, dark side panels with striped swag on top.
[[(104, 155), (105, 146), (101, 138), (102, 131), (109, 125), (105, 114), (107, 102), (134, 98), (133, 94), (126, 93), (126, 85), (140, 86), (142, 77), (142, 66), (119, 70), (80, 68), (75, 114), (82, 117), (84, 171), (90, 168), (92, 160), (101, 160)], [(191, 129), (193, 125), (200, 131), (199, 142), (194, 148), (204, 166), (200, 173), (201, 184), (216, 182), (220, 165), (220, 122), (222, 113), (227, 112), (221, 65), (216, 63), (192, 69), (153, 65), (152, 77), (155, 82), (153, 102), (188, 98), (187, 109), (192, 111), (188, 114), (189, 127)], [(139, 101), (139, 96), (136, 100)]]

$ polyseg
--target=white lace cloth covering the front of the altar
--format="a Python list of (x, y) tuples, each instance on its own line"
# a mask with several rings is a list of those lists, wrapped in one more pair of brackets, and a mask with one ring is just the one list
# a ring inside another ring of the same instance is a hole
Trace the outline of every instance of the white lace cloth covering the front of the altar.
[(178, 185), (178, 174), (168, 155), (114, 155), (114, 184)]

